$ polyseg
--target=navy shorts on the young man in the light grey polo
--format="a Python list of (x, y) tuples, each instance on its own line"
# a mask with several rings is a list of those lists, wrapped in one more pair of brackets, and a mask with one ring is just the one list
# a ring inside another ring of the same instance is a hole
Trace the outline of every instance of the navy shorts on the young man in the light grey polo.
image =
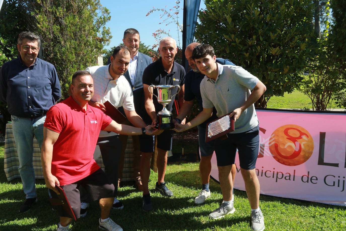
[(231, 165), (238, 149), (240, 168), (251, 170), (256, 167), (260, 146), (259, 126), (247, 132), (229, 133), (227, 139), (216, 139), (215, 154), (218, 166)]

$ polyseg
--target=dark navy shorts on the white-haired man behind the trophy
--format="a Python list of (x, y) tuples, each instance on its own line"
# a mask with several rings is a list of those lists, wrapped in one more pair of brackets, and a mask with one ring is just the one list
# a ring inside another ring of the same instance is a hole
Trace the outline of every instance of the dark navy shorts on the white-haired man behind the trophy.
[[(156, 136), (157, 148), (165, 151), (172, 150), (172, 130), (165, 130), (160, 135)], [(139, 144), (141, 152), (153, 152), (154, 151), (154, 136), (153, 135), (139, 135)]]

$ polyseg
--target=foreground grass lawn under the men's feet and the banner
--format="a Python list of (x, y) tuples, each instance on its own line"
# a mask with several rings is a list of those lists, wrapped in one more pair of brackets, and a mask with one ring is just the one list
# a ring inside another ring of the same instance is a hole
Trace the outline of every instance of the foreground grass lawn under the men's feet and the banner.
[[(3, 166), (3, 146), (0, 147), (0, 165)], [(237, 175), (237, 177), (241, 177)], [(157, 174), (151, 172), (149, 188), (154, 189)], [(194, 206), (193, 199), (201, 185), (198, 163), (177, 163), (167, 165), (167, 186), (173, 191), (172, 198), (164, 198), (151, 191), (154, 211), (145, 213), (141, 209), (142, 193), (132, 185), (119, 189), (124, 210), (111, 211), (111, 218), (124, 230), (250, 230), (249, 203), (246, 193), (234, 190), (236, 212), (223, 219), (210, 220), (208, 214), (222, 201), (220, 186), (210, 181), (211, 198), (204, 205)], [(19, 206), (24, 201), (20, 179), (7, 181), (0, 169), (0, 230), (56, 230), (58, 216), (48, 203), (44, 180), (37, 180), (38, 203), (27, 213), (20, 214)], [(260, 196), (261, 209), (265, 216), (266, 231), (281, 230), (346, 230), (346, 209), (294, 199)], [(75, 231), (98, 230), (99, 205), (93, 202), (85, 218), (73, 222)]]

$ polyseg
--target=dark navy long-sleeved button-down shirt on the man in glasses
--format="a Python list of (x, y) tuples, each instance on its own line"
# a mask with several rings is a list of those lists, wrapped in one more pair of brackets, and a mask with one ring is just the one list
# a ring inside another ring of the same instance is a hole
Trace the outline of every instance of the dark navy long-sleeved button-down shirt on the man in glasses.
[(34, 118), (43, 116), (61, 97), (55, 67), (36, 58), (27, 67), (21, 58), (6, 62), (0, 69), (0, 100), (11, 115)]

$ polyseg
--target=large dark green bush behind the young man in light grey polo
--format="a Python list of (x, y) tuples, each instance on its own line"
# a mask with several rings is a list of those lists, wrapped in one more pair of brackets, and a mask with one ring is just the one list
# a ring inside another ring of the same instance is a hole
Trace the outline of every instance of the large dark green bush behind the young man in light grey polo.
[(302, 81), (316, 43), (309, 0), (205, 0), (195, 37), (213, 46), (258, 77), (267, 87), (255, 104), (266, 107), (271, 96), (292, 92)]

